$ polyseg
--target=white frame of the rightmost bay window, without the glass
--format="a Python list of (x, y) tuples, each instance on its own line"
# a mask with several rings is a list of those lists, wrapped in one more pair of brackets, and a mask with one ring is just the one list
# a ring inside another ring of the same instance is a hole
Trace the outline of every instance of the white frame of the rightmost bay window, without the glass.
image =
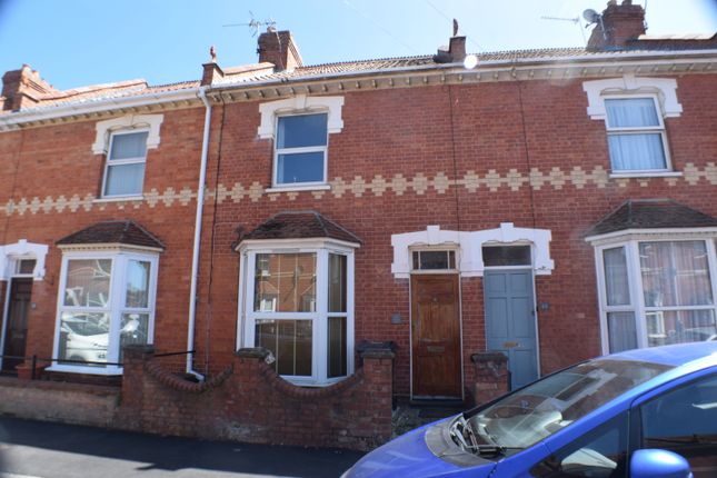
[[(653, 230), (636, 231), (628, 230), (620, 233), (611, 233), (603, 237), (589, 237), (586, 240), (595, 246), (595, 266), (598, 281), (598, 303), (600, 313), (600, 337), (603, 353), (609, 353), (609, 333), (607, 315), (609, 312), (633, 312), (635, 329), (637, 332), (637, 347), (648, 347), (647, 315), (653, 311), (671, 310), (713, 310), (717, 317), (717, 252), (715, 240), (717, 230)], [(713, 292), (711, 306), (674, 306), (674, 307), (646, 307), (643, 289), (643, 276), (639, 261), (640, 242), (679, 242), (679, 241), (703, 241), (707, 250), (707, 262), (709, 267), (709, 279)], [(605, 286), (605, 265), (603, 251), (606, 249), (625, 248), (627, 261), (627, 277), (629, 285), (630, 303), (625, 306), (608, 306), (607, 290)]]

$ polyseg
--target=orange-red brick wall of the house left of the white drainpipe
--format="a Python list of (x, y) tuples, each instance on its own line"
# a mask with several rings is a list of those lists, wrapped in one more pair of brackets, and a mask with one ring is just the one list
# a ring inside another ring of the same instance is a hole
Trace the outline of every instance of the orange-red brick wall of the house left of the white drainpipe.
[[(0, 133), (0, 240), (49, 246), (47, 273), (32, 285), (27, 355), (50, 358), (62, 253), (56, 241), (106, 220), (136, 221), (166, 246), (159, 258), (155, 343), (187, 349), (187, 315), (203, 108), (165, 111), (148, 149), (143, 198), (98, 200), (106, 162), (94, 155), (96, 121)], [(99, 120), (104, 120), (101, 117)], [(60, 293), (61, 296), (61, 293)]]

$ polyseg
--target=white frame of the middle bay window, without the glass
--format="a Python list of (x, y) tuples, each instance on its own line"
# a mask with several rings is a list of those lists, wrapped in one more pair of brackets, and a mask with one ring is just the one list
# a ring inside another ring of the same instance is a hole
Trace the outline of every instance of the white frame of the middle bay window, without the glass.
[[(311, 325), (311, 376), (281, 376), (287, 381), (305, 387), (325, 387), (351, 376), (355, 370), (355, 255), (358, 245), (332, 239), (252, 240), (240, 247), (239, 323), (237, 343), (255, 347), (256, 321), (259, 319), (301, 320)], [(316, 253), (316, 311), (315, 312), (261, 312), (253, 310), (255, 269), (257, 255), (261, 253)], [(346, 312), (329, 312), (329, 253), (346, 256)], [(347, 375), (328, 378), (328, 318), (346, 317)]]

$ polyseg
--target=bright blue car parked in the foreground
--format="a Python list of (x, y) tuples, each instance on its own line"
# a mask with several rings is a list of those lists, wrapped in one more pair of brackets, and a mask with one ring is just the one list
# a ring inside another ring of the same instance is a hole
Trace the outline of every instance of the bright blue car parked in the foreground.
[(345, 478), (717, 477), (717, 341), (578, 364), (412, 430)]

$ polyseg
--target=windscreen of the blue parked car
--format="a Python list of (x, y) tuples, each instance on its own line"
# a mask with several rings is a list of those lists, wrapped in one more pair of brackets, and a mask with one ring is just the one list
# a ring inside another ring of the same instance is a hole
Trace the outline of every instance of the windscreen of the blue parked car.
[(633, 360), (590, 360), (508, 395), (474, 416), (470, 426), (486, 444), (530, 447), (670, 368)]

